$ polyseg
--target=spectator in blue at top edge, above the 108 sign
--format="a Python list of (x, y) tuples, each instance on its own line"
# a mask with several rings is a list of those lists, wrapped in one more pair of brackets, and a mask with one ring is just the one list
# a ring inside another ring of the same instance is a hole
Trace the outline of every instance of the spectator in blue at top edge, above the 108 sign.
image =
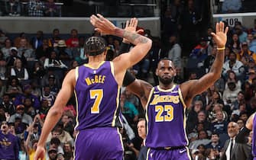
[(233, 13), (241, 10), (241, 0), (225, 0), (222, 3), (223, 13)]

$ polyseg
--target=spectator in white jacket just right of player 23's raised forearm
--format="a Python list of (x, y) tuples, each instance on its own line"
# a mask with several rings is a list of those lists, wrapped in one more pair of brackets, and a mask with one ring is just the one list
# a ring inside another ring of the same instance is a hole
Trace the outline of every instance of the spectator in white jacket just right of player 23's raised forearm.
[(226, 78), (228, 77), (228, 71), (232, 70), (239, 80), (243, 79), (245, 74), (244, 64), (236, 59), (236, 54), (234, 52), (229, 53), (228, 61), (224, 62), (222, 75)]

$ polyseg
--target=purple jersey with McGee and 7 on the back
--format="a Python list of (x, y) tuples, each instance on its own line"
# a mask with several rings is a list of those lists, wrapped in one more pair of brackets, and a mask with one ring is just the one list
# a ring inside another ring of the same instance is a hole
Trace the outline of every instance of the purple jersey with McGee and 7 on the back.
[(112, 62), (102, 62), (98, 68), (87, 64), (77, 67), (76, 130), (116, 126), (119, 91)]

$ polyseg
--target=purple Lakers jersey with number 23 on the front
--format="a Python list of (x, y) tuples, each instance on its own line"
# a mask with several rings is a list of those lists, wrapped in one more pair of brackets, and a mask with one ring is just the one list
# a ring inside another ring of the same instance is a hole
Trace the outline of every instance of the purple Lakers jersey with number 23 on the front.
[(147, 139), (150, 148), (187, 146), (185, 104), (179, 85), (169, 90), (152, 88), (146, 107)]

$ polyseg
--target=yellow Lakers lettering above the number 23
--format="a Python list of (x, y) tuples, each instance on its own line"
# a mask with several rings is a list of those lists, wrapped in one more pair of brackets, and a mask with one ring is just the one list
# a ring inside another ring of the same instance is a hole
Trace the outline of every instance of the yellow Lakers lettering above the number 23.
[(180, 102), (179, 95), (159, 95), (154, 94), (154, 98), (151, 101), (151, 105), (158, 104), (160, 102), (173, 102), (173, 104), (178, 104)]

